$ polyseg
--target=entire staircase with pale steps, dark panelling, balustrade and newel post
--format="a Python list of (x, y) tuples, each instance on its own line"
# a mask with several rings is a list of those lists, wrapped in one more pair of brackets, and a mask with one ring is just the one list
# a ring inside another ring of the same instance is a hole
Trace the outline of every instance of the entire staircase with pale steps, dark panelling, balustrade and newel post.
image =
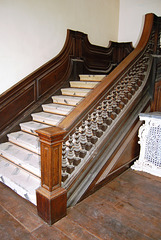
[[(151, 108), (160, 32), (161, 19), (146, 15), (133, 50), (129, 44), (94, 46), (86, 35), (68, 31), (56, 58), (0, 98), (0, 130), (9, 139), (0, 145), (1, 181), (37, 203), (48, 224), (137, 159), (138, 115)], [(45, 103), (49, 96), (53, 102)], [(40, 103), (43, 111), (35, 110)], [(24, 121), (29, 112), (32, 120)], [(12, 121), (21, 130), (11, 132)]]

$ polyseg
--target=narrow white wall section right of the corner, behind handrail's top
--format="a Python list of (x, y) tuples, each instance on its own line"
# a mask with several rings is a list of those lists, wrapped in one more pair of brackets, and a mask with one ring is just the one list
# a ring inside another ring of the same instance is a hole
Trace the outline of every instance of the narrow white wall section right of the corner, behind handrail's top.
[(161, 0), (120, 0), (118, 41), (132, 41), (136, 46), (146, 13), (161, 16)]

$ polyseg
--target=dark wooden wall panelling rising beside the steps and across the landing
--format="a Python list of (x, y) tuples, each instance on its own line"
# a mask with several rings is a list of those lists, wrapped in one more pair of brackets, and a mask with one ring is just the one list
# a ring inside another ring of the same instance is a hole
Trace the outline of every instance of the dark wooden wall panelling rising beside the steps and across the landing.
[[(6, 134), (7, 129), (16, 124), (16, 119), (18, 122), (23, 115), (30, 114), (38, 104), (49, 98), (52, 91), (55, 92), (68, 81), (73, 59), (82, 61), (81, 73), (108, 73), (111, 70), (112, 55), (113, 48), (92, 45), (86, 34), (68, 30), (64, 47), (55, 58), (0, 96), (1, 135)], [(79, 70), (76, 72), (80, 73)], [(33, 87), (29, 87), (30, 85)]]

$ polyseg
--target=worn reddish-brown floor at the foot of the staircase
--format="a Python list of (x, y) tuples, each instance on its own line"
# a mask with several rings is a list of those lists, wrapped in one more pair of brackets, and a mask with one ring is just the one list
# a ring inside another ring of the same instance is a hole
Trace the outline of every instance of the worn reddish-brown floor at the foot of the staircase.
[(1, 240), (161, 239), (161, 178), (128, 170), (68, 209), (52, 227), (36, 207), (0, 184)]

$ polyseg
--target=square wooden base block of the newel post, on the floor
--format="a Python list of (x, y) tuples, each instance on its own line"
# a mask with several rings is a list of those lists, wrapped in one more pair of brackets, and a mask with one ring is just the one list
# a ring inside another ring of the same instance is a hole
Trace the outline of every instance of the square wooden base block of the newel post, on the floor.
[(57, 188), (53, 192), (40, 187), (36, 191), (38, 215), (49, 225), (57, 222), (67, 214), (67, 192)]

